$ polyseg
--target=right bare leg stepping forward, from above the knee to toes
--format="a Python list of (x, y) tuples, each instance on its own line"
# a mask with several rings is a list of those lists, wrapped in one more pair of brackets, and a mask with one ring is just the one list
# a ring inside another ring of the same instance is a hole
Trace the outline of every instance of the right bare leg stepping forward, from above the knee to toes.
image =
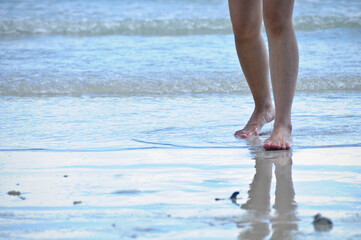
[(294, 0), (264, 0), (271, 80), (276, 105), (273, 133), (265, 149), (289, 149), (292, 146), (291, 107), (298, 74), (298, 47), (292, 24)]

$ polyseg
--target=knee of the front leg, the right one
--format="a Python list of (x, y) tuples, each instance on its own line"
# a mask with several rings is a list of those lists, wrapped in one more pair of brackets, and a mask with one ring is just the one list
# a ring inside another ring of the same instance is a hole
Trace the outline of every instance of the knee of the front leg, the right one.
[(268, 35), (279, 36), (285, 30), (292, 28), (292, 15), (285, 14), (279, 8), (266, 8), (263, 12), (264, 25)]

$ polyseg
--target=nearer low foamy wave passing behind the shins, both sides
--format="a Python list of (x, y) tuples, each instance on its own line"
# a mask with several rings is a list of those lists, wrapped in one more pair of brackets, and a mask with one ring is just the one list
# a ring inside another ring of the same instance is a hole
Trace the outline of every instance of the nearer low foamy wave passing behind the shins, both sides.
[[(297, 91), (361, 91), (359, 77), (301, 78)], [(239, 77), (172, 78), (133, 80), (3, 80), (1, 96), (82, 96), (82, 95), (176, 95), (176, 94), (237, 94), (249, 93), (244, 79)]]

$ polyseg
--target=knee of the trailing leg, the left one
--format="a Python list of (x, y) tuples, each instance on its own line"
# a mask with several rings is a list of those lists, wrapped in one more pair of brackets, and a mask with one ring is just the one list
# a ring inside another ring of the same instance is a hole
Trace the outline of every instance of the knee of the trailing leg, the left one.
[(244, 41), (257, 37), (261, 23), (257, 20), (238, 18), (232, 21), (233, 33), (236, 41)]

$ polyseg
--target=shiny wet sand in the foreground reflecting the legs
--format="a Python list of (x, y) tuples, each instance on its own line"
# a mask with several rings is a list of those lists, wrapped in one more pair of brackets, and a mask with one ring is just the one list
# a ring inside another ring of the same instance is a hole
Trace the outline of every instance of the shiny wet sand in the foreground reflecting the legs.
[(360, 153), (0, 152), (0, 238), (360, 239)]

